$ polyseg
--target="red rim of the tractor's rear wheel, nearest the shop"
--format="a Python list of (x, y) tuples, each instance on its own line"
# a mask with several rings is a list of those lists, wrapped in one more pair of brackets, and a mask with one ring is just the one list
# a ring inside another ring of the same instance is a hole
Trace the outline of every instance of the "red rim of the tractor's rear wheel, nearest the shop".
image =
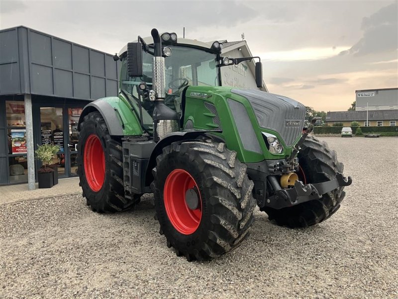
[(84, 169), (90, 188), (100, 191), (105, 178), (105, 156), (97, 135), (90, 135), (84, 147)]

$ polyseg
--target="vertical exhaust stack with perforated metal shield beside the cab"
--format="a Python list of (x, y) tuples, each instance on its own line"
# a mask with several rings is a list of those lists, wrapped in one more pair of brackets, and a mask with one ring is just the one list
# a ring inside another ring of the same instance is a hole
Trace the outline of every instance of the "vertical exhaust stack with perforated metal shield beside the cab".
[(153, 136), (155, 142), (166, 135), (179, 131), (178, 114), (164, 104), (166, 97), (166, 68), (165, 58), (162, 56), (162, 41), (157, 29), (152, 29), (154, 44), (152, 58), (152, 89), (155, 91), (155, 108), (153, 110)]

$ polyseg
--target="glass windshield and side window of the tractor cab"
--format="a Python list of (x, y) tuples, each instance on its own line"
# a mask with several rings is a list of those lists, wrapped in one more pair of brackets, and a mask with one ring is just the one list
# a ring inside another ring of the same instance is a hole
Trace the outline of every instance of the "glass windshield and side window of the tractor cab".
[[(170, 108), (179, 109), (181, 102), (180, 93), (187, 85), (194, 86), (219, 86), (219, 70), (216, 67), (217, 55), (203, 50), (170, 46), (172, 54), (165, 58), (166, 66), (166, 99), (165, 104)], [(146, 82), (149, 88), (152, 86), (152, 55), (143, 52), (143, 76), (129, 77), (127, 73), (126, 59), (122, 60), (121, 91), (127, 96), (133, 105), (141, 102), (142, 122), (146, 129), (152, 129), (153, 103), (146, 102), (138, 93), (138, 84)]]

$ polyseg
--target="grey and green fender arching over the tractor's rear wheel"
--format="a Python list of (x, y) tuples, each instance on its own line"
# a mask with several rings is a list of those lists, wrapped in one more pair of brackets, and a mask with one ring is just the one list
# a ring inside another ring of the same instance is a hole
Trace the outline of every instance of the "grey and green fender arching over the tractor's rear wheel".
[(79, 118), (79, 131), (84, 117), (94, 111), (100, 112), (110, 135), (140, 136), (143, 134), (137, 115), (118, 97), (102, 98), (86, 105)]

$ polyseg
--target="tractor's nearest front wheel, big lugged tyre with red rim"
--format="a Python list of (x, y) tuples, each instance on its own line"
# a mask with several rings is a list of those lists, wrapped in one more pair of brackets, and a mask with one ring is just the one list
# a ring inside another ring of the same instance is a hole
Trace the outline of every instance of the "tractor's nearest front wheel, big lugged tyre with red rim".
[[(256, 203), (253, 182), (236, 152), (210, 140), (175, 142), (156, 162), (152, 188), (167, 246), (188, 261), (219, 257), (239, 246), (254, 221)], [(189, 208), (185, 194), (195, 188), (200, 202)], [(190, 214), (196, 215), (194, 221), (185, 220)]]

